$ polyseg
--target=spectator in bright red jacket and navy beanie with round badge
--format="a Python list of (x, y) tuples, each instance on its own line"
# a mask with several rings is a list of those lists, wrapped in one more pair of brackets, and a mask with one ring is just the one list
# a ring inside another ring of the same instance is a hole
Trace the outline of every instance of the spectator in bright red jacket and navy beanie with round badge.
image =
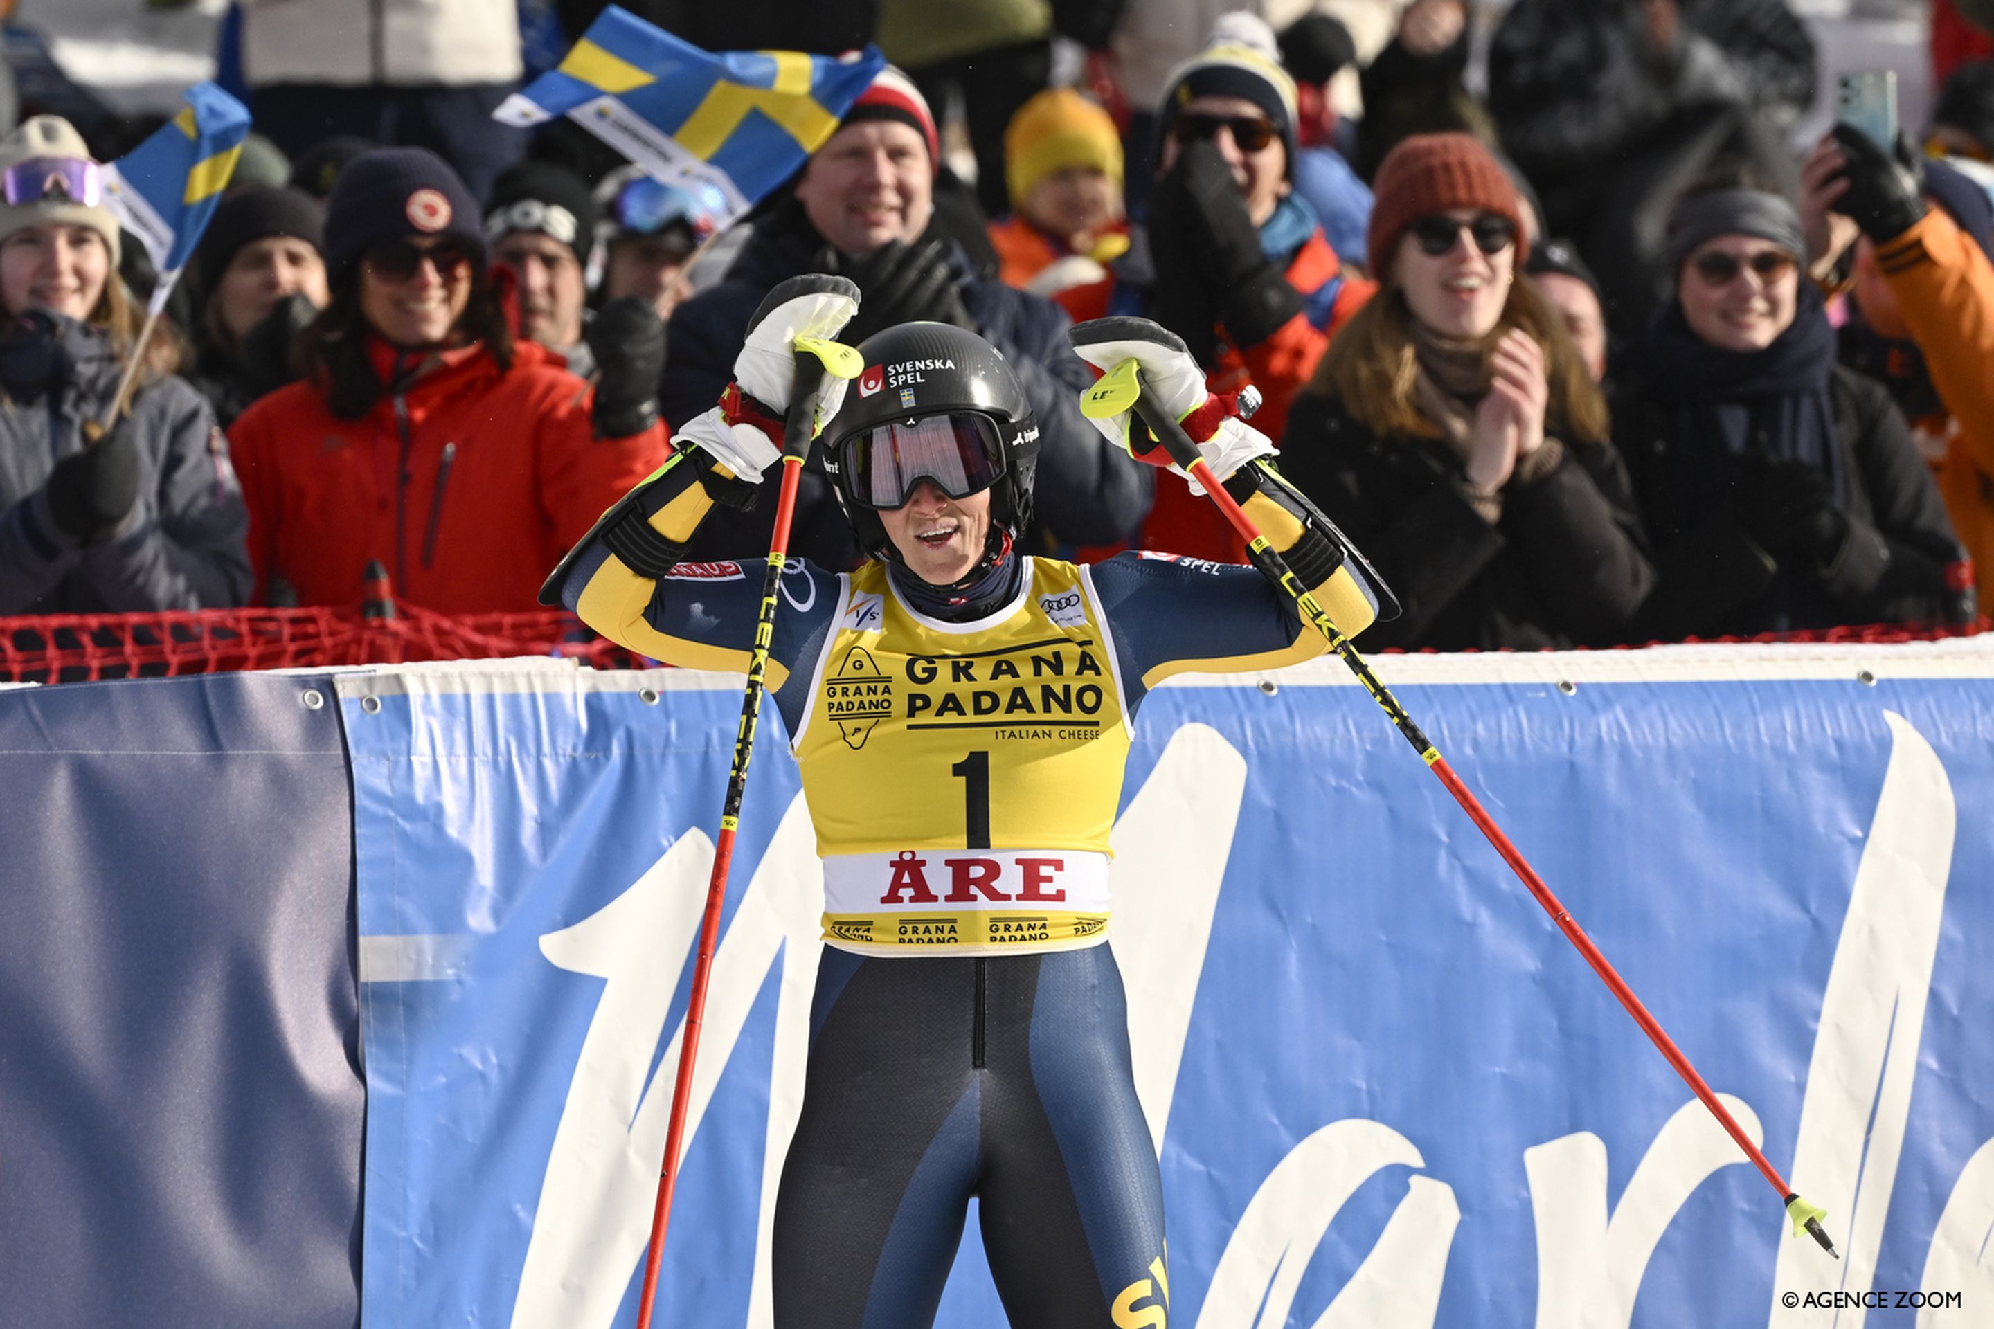
[(590, 397), (514, 341), (487, 261), (477, 199), (429, 149), (339, 175), (333, 301), (301, 337), (305, 379), (231, 430), (261, 602), (353, 604), (379, 560), (431, 610), (530, 610), (560, 554), (664, 460), (662, 331), (600, 365)]

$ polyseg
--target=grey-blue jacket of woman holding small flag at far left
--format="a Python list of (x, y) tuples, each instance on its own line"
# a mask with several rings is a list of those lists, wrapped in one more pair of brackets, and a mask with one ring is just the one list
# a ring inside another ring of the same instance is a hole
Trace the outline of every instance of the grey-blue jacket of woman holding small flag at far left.
[(132, 614), (233, 608), (249, 596), (247, 512), (215, 414), (191, 387), (164, 379), (132, 400), (138, 504), (112, 538), (80, 546), (48, 514), (56, 462), (80, 452), (120, 365), (108, 339), (62, 321), (54, 383), (0, 385), (0, 614)]

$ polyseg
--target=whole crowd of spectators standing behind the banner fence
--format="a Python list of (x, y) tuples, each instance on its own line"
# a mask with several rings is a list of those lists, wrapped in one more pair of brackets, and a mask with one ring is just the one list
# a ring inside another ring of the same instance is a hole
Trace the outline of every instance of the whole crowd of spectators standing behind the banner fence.
[[(602, 6), (536, 8), (574, 36)], [(1163, 323), (1212, 393), (1258, 389), (1398, 592), (1376, 646), (1994, 608), (1974, 6), (1940, 6), (1944, 84), (1892, 143), (1797, 139), (1825, 72), (1785, 0), (626, 8), (895, 64), (722, 227), (572, 124), (491, 120), (528, 72), (516, 0), (243, 4), (257, 133), (126, 402), (154, 275), (100, 163), (144, 126), (0, 124), (0, 612), (337, 606), (373, 564), (447, 614), (530, 608), (806, 271), (859, 285), (847, 341), (925, 319), (1011, 361), (1035, 548), (1240, 560), (1079, 414), (1067, 327)], [(766, 552), (772, 506), (692, 556)], [(792, 548), (859, 558), (818, 462)]]

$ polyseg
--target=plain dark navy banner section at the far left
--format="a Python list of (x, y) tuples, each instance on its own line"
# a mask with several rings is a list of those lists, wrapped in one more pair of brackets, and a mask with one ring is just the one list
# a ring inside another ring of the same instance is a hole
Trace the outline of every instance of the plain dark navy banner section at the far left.
[(323, 675), (0, 691), (0, 1323), (359, 1315), (353, 817)]

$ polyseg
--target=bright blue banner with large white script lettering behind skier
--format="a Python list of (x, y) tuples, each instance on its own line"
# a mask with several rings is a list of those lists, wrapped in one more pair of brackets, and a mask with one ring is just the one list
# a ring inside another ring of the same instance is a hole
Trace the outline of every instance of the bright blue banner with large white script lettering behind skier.
[[(1828, 1209), (1842, 1261), (1787, 1235), (1767, 1180), (1322, 662), (1170, 685), (1141, 715), (1113, 946), (1163, 1160), (1168, 1323), (1846, 1327), (1864, 1313), (1834, 1301), (1870, 1293), (1868, 1323), (1988, 1323), (1994, 982), (1974, 954), (1994, 934), (1994, 660), (1677, 650), (1380, 673)], [(634, 1323), (738, 687), (341, 683), (365, 1325)], [(768, 1323), (822, 891), (776, 729), (658, 1323)], [(937, 1323), (1005, 1325), (973, 1221)]]

